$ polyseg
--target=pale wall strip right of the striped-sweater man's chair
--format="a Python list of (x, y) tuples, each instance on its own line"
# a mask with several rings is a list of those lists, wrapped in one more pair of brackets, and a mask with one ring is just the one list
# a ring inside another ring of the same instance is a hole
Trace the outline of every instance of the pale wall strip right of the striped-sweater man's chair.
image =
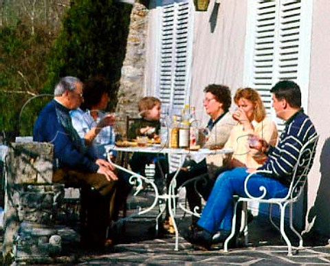
[(330, 1), (314, 0), (311, 34), (309, 116), (320, 134), (309, 175), (307, 222), (330, 236)]

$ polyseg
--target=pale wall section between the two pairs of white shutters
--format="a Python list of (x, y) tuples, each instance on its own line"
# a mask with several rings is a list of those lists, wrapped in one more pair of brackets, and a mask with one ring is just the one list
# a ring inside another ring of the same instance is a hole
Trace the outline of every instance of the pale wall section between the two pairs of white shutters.
[(194, 14), (191, 100), (197, 110), (207, 85), (227, 85), (232, 95), (243, 85), (246, 1), (220, 2), (210, 0), (207, 12)]

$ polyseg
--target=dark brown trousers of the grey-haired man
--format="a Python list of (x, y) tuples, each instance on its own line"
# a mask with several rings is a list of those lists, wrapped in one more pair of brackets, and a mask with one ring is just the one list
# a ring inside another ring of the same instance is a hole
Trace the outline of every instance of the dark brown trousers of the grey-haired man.
[[(108, 181), (98, 173), (83, 173), (76, 170), (58, 169), (54, 171), (54, 183), (81, 188), (82, 212), (86, 212), (85, 226), (82, 224), (82, 241), (94, 245), (104, 245), (107, 227), (113, 216), (116, 181)], [(83, 210), (85, 206), (86, 210)]]

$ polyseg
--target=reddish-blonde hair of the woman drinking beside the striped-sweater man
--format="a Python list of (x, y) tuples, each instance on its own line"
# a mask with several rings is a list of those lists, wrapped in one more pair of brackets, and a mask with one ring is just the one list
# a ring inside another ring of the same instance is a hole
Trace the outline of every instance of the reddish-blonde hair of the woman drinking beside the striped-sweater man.
[(254, 104), (254, 120), (256, 122), (261, 122), (265, 119), (266, 110), (258, 91), (252, 88), (239, 88), (234, 96), (235, 104), (238, 104), (241, 98), (250, 100)]

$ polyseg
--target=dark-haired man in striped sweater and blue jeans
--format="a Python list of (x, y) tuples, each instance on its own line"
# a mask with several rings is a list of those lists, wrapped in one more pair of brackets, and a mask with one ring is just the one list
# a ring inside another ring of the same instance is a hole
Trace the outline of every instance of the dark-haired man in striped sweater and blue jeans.
[[(272, 89), (273, 108), (276, 116), (285, 120), (285, 130), (277, 146), (270, 146), (264, 140), (258, 140), (251, 148), (268, 155), (267, 161), (258, 170), (269, 170), (272, 175), (254, 175), (248, 184), (248, 190), (254, 197), (259, 197), (259, 188), (267, 190), (265, 199), (284, 197), (292, 180), (294, 165), (303, 145), (316, 135), (316, 129), (301, 108), (299, 86), (292, 81), (278, 82)], [(246, 197), (244, 181), (256, 169), (234, 168), (217, 178), (197, 225), (200, 230), (188, 233), (186, 239), (203, 249), (210, 249), (212, 244), (223, 242), (232, 227), (233, 195)], [(214, 238), (214, 234), (217, 238)]]

